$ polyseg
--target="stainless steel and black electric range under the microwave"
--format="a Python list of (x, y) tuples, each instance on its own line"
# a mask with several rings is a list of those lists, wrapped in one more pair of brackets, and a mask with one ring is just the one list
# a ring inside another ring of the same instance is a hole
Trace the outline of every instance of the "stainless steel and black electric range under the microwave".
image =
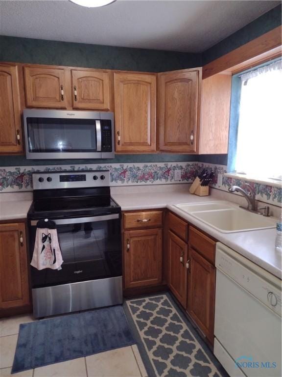
[(121, 210), (107, 170), (33, 173), (27, 214), (32, 259), (40, 219), (56, 223), (62, 269), (31, 267), (34, 317), (122, 302)]

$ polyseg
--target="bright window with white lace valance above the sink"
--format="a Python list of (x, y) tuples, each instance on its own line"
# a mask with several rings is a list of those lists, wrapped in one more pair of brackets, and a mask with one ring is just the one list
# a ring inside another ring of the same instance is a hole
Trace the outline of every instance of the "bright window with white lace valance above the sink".
[(239, 75), (235, 172), (282, 178), (282, 61)]

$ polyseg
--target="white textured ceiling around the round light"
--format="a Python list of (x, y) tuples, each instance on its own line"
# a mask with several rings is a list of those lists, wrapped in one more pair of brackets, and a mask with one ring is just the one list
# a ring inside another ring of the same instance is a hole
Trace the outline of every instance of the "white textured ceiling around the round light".
[(66, 0), (0, 0), (0, 35), (198, 53), (278, 4), (118, 0), (85, 8)]

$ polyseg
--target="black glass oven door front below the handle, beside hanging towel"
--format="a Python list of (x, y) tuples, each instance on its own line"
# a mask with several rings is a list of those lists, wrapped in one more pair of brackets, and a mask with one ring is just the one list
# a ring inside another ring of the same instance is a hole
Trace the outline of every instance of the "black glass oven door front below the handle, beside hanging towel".
[(32, 286), (122, 275), (120, 219), (57, 225), (61, 270), (32, 268)]

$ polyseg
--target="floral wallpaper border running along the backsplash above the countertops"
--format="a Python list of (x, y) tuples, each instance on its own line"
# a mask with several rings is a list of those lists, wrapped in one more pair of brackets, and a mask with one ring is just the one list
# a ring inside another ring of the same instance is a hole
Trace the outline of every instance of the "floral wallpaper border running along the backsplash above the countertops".
[[(254, 189), (257, 199), (281, 206), (282, 188), (263, 185), (237, 178), (225, 177), (225, 165), (201, 162), (157, 162), (157, 163), (113, 163), (85, 165), (50, 166), (9, 166), (0, 167), (0, 192), (32, 190), (32, 173), (40, 171), (110, 170), (111, 186), (163, 185), (191, 183), (204, 168), (214, 171), (211, 187), (228, 191), (233, 185), (243, 187), (248, 182)], [(181, 181), (174, 180), (175, 170), (181, 170)], [(222, 174), (222, 185), (218, 184), (218, 174)]]

